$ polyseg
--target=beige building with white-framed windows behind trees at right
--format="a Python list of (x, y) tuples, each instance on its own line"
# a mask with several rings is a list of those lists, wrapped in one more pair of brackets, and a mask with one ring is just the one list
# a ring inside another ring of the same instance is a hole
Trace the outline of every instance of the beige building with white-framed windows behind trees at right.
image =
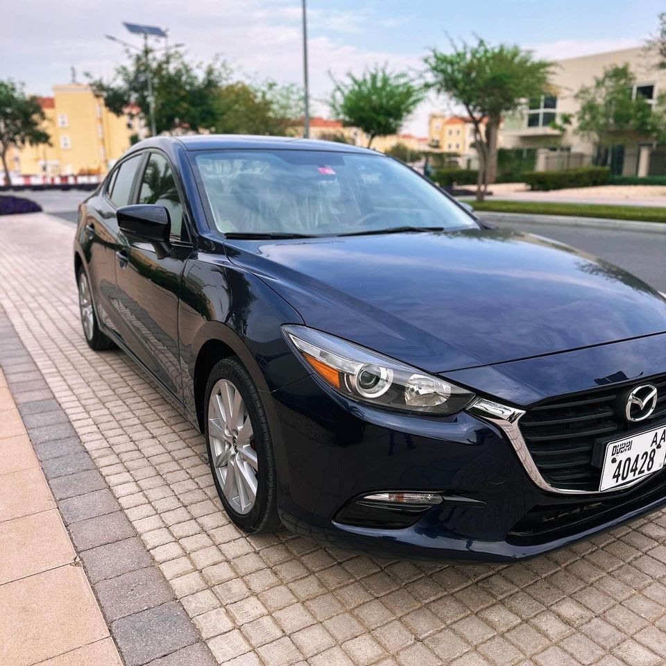
[[(605, 69), (625, 63), (636, 78), (634, 96), (642, 95), (654, 103), (658, 94), (666, 91), (666, 71), (657, 69), (654, 58), (641, 47), (559, 60), (554, 70), (553, 94), (529, 101), (520, 112), (504, 119), (499, 133), (502, 146), (541, 148), (536, 160), (536, 169), (540, 171), (590, 164), (597, 146), (576, 131), (575, 114), (579, 105), (575, 95), (581, 87), (592, 85)], [(564, 133), (550, 127), (562, 114), (574, 115), (574, 123)], [(663, 173), (663, 149), (637, 137), (635, 142), (613, 146), (606, 162), (614, 173), (625, 176)]]

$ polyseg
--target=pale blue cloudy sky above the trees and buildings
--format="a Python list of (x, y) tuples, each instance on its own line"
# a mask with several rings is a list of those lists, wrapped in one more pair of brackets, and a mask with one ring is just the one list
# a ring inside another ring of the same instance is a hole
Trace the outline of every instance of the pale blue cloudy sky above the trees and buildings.
[[(572, 58), (640, 46), (656, 29), (663, 0), (307, 0), (313, 113), (325, 115), (331, 76), (375, 64), (422, 69), (429, 49), (450, 49), (450, 37), (520, 44), (537, 56)], [(51, 94), (69, 83), (71, 67), (110, 78), (124, 57), (105, 34), (128, 41), (123, 21), (169, 30), (193, 60), (216, 54), (238, 76), (302, 82), (300, 0), (21, 0), (0, 22), (0, 79)], [(404, 130), (427, 134), (427, 115), (452, 112), (445, 99), (422, 103)]]

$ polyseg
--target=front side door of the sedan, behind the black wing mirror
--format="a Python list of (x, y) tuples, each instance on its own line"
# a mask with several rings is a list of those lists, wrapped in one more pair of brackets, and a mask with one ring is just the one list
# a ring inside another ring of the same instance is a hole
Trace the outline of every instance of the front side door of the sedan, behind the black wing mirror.
[(166, 253), (119, 233), (117, 304), (122, 337), (130, 351), (174, 395), (180, 395), (178, 297), (185, 261), (191, 255), (182, 188), (167, 156), (152, 150), (140, 167), (133, 201), (164, 206), (171, 219)]

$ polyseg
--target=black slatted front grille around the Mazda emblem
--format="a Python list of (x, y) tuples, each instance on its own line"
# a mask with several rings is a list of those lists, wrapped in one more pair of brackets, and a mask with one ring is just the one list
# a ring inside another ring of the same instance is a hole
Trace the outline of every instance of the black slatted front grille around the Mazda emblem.
[[(627, 391), (641, 384), (657, 387), (654, 413), (639, 423), (624, 416)], [(666, 375), (631, 384), (546, 400), (520, 418), (520, 432), (543, 478), (555, 488), (599, 490), (601, 463), (595, 444), (642, 432), (666, 417)]]

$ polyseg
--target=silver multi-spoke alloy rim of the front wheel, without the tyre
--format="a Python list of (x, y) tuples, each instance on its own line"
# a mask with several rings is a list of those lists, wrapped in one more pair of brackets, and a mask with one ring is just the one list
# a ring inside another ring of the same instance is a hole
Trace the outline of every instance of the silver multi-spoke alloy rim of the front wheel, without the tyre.
[(237, 513), (249, 513), (257, 497), (255, 437), (241, 393), (228, 379), (220, 379), (210, 392), (208, 436), (225, 499)]

